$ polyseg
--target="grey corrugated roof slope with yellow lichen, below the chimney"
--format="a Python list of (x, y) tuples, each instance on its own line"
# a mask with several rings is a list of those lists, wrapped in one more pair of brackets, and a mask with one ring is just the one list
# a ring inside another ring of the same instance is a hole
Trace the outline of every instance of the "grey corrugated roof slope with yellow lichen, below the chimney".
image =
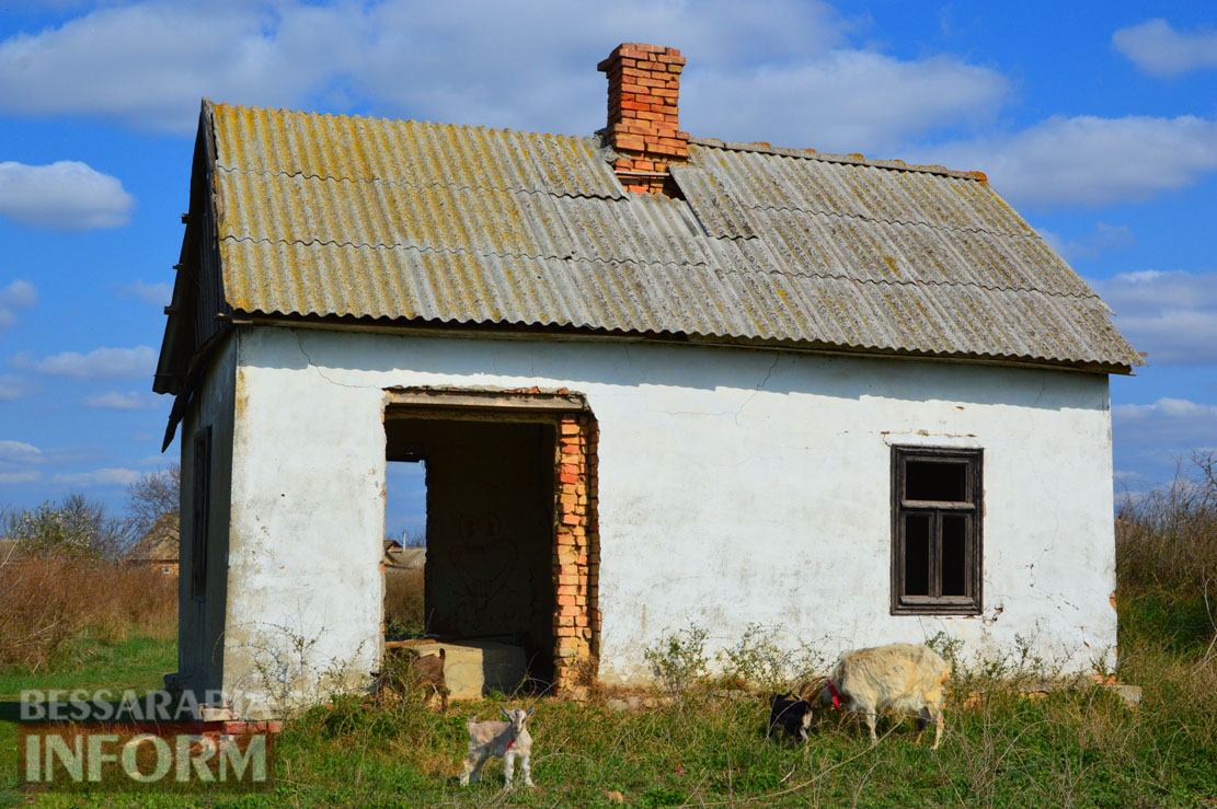
[(590, 137), (224, 105), (213, 127), (235, 310), (1140, 364), (975, 175), (694, 141), (682, 201), (624, 192)]

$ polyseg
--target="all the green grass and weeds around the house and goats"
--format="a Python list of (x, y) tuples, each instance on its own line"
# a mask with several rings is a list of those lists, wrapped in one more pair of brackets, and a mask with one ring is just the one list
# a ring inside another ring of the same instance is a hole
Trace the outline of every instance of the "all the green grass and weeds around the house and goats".
[[(947, 736), (937, 752), (914, 742), (910, 720), (888, 721), (871, 747), (852, 718), (834, 714), (796, 747), (764, 738), (763, 697), (727, 698), (697, 690), (636, 713), (550, 698), (455, 703), (447, 715), (416, 700), (374, 706), (336, 697), (288, 724), (275, 746), (269, 793), (191, 796), (201, 805), (627, 805), (683, 804), (862, 807), (1217, 807), (1217, 663), (1199, 665), (1204, 646), (1160, 637), (1161, 605), (1122, 605), (1121, 679), (1144, 686), (1129, 708), (1088, 687), (1030, 700), (986, 678), (955, 684)], [(159, 685), (175, 668), (173, 642), (130, 639), (82, 642), (38, 676), (0, 674), (21, 689)], [(980, 695), (964, 708), (964, 695)], [(489, 719), (500, 704), (535, 704), (534, 790), (504, 793), (499, 763), (479, 785), (461, 788), (465, 718)], [(0, 724), (12, 749), (16, 730)], [(5, 783), (15, 782), (12, 760)], [(0, 804), (82, 798), (130, 805), (131, 794), (0, 793)], [(180, 805), (181, 796), (140, 796), (140, 805)]]

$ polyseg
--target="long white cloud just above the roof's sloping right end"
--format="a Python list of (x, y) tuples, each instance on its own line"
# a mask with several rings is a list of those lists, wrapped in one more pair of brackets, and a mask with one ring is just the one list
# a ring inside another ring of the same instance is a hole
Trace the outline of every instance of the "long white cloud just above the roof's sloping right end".
[(1015, 203), (1134, 202), (1217, 172), (1217, 120), (1058, 116), (1014, 135), (921, 150), (916, 159), (985, 172)]

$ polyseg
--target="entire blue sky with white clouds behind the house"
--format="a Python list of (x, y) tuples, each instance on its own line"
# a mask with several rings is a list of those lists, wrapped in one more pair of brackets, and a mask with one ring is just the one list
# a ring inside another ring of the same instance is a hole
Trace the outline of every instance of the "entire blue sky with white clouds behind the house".
[(1149, 353), (1112, 380), (1117, 489), (1217, 448), (1211, 4), (0, 6), (0, 505), (117, 506), (175, 456), (151, 380), (201, 96), (590, 134), (621, 41), (683, 50), (694, 135), (986, 172)]

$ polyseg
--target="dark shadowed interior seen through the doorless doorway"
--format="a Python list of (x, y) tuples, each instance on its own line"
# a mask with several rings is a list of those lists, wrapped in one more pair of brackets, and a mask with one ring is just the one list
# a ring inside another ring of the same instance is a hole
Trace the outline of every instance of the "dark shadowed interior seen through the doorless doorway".
[(518, 646), (551, 682), (554, 425), (393, 414), (385, 433), (388, 461), (426, 465), (426, 635)]

